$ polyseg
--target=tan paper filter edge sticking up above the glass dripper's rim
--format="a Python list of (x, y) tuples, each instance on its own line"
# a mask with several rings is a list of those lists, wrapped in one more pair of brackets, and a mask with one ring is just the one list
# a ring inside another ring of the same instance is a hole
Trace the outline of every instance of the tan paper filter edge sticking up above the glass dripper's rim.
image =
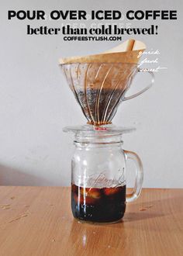
[(59, 60), (60, 64), (71, 63), (131, 63), (137, 64), (138, 55), (146, 49), (144, 43), (138, 40), (127, 40), (111, 50), (102, 54), (87, 55), (83, 57), (66, 57)]

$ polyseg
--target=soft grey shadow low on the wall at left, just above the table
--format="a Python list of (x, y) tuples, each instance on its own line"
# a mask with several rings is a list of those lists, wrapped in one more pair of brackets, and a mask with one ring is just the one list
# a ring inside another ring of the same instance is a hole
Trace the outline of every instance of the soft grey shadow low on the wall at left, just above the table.
[(0, 185), (47, 185), (48, 181), (0, 164)]

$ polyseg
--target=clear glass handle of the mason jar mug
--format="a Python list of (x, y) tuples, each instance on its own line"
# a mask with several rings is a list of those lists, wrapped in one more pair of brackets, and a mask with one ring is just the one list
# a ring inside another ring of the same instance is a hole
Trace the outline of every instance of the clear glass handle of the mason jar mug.
[(140, 195), (142, 185), (143, 185), (143, 164), (140, 160), (140, 157), (131, 151), (124, 150), (126, 161), (128, 159), (132, 159), (136, 165), (136, 182), (133, 188), (133, 192), (130, 194), (126, 194), (126, 202), (132, 202), (133, 200), (137, 199)]

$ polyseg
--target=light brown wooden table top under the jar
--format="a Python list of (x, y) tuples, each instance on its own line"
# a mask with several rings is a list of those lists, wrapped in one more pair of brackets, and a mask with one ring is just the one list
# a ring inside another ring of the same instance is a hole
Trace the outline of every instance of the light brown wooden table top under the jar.
[(0, 187), (0, 255), (183, 255), (183, 189), (143, 189), (123, 221), (78, 223), (62, 187)]

